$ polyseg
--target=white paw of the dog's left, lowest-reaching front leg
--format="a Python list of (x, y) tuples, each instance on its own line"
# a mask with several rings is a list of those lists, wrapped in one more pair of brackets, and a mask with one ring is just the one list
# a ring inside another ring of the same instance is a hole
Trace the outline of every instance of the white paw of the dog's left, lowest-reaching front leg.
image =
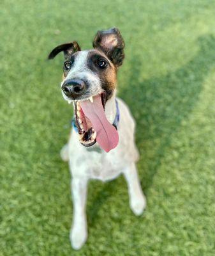
[(83, 226), (74, 226), (71, 228), (70, 241), (75, 250), (79, 250), (87, 240), (87, 228)]

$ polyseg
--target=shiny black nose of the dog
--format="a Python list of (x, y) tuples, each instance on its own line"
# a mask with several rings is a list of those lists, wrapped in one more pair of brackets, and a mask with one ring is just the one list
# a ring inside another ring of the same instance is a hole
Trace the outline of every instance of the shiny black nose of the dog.
[(76, 99), (78, 96), (82, 95), (85, 91), (85, 83), (82, 80), (70, 79), (64, 81), (61, 89), (68, 97)]

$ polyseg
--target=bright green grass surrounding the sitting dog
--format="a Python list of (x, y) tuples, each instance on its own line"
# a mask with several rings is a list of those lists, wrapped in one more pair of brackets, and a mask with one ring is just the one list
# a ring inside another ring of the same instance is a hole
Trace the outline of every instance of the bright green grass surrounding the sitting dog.
[[(0, 4), (0, 255), (215, 254), (215, 1), (6, 1)], [(92, 181), (89, 239), (71, 249), (70, 173), (59, 157), (71, 106), (57, 44), (126, 42), (119, 95), (137, 120), (147, 209), (126, 182)]]

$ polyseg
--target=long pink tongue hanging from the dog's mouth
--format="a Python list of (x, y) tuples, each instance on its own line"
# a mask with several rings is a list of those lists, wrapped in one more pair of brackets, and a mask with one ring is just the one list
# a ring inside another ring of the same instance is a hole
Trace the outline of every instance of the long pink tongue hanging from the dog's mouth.
[(101, 97), (93, 97), (93, 102), (85, 100), (80, 102), (84, 115), (91, 120), (93, 128), (96, 131), (96, 141), (106, 152), (115, 148), (119, 142), (118, 132), (110, 124), (105, 116), (105, 111), (101, 103)]

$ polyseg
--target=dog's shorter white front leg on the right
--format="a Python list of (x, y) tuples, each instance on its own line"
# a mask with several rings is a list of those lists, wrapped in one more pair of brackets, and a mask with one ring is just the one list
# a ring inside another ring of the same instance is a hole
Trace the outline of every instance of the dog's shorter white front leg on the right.
[(131, 210), (134, 214), (140, 215), (145, 209), (146, 200), (140, 186), (140, 180), (138, 178), (135, 163), (131, 163), (124, 169), (124, 176), (128, 183)]

